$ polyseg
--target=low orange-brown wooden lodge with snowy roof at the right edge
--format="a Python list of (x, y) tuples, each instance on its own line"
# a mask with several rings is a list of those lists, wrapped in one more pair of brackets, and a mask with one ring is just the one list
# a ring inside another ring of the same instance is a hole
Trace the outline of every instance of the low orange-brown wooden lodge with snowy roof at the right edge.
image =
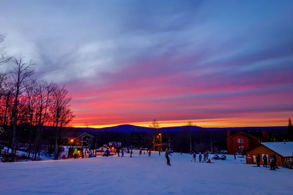
[(256, 164), (257, 153), (260, 155), (260, 164), (264, 164), (263, 156), (267, 155), (268, 165), (270, 165), (270, 155), (273, 154), (277, 157), (277, 166), (284, 166), (286, 160), (293, 158), (293, 142), (262, 142), (255, 148), (247, 151), (246, 163)]

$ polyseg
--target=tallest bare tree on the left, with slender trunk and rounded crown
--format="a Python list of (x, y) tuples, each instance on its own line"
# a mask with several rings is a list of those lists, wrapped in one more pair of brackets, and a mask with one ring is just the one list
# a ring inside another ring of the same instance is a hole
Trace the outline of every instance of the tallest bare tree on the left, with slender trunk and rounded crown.
[(12, 81), (15, 86), (15, 100), (13, 105), (13, 135), (12, 135), (12, 161), (14, 161), (14, 150), (15, 150), (15, 132), (18, 121), (18, 104), (19, 96), (25, 91), (26, 87), (31, 84), (30, 78), (35, 73), (35, 64), (30, 61), (24, 61), (24, 57), (13, 58), (15, 66), (11, 72)]

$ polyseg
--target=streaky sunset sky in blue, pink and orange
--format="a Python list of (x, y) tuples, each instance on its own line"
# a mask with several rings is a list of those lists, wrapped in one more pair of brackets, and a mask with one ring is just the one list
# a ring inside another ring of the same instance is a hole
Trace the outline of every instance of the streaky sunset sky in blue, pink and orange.
[(286, 126), (292, 10), (292, 0), (1, 0), (0, 32), (37, 78), (66, 85), (77, 127)]

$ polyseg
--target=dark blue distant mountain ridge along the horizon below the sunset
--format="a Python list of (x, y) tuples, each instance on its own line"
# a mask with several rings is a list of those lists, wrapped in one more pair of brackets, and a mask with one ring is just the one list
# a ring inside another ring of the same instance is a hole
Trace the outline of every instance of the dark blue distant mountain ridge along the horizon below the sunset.
[[(97, 131), (108, 131), (108, 132), (122, 132), (122, 133), (130, 133), (132, 128), (144, 128), (145, 132), (148, 133), (151, 131), (149, 127), (140, 127), (135, 125), (118, 125), (113, 127), (104, 127), (104, 128), (86, 128), (86, 127), (75, 127), (74, 129), (78, 131), (87, 131), (87, 132), (97, 132)], [(184, 129), (189, 130), (187, 126), (179, 126), (179, 127), (162, 127), (160, 128), (160, 132), (181, 132)], [(287, 126), (276, 126), (276, 127), (223, 127), (223, 128), (206, 128), (199, 126), (190, 126), (190, 131), (236, 131), (236, 130), (274, 130), (274, 129), (287, 129)]]

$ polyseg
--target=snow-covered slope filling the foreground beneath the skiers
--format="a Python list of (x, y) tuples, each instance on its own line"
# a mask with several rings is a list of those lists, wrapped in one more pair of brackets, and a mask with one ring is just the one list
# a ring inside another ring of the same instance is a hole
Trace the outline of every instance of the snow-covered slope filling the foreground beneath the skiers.
[[(163, 153), (164, 154), (164, 153)], [(0, 195), (291, 195), (293, 170), (270, 171), (245, 158), (191, 162), (188, 154), (0, 163)]]

